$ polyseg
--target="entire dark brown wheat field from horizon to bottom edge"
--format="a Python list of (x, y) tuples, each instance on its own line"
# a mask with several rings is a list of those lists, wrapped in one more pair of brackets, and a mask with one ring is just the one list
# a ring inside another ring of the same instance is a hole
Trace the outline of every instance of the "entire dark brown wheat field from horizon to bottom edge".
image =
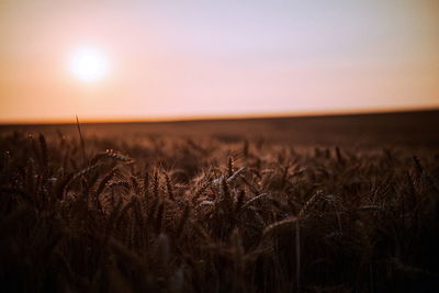
[(2, 292), (435, 292), (438, 117), (3, 125)]

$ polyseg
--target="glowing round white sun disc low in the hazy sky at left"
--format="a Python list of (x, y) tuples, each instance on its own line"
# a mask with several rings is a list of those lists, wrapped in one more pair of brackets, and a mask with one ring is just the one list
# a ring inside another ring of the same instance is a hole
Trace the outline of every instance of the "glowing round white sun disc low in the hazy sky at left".
[(71, 56), (70, 70), (80, 80), (88, 82), (100, 80), (108, 71), (105, 56), (95, 48), (80, 48)]

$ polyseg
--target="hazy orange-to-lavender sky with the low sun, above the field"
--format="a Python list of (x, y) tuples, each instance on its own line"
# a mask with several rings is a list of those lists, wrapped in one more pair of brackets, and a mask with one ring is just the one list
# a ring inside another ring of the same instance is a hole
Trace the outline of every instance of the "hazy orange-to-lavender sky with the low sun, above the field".
[(438, 108), (437, 0), (0, 1), (0, 123)]

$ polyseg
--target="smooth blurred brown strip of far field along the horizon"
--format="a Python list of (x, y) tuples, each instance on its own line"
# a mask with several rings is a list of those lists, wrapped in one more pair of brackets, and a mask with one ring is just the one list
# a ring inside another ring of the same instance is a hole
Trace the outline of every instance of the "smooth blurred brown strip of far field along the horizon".
[[(79, 117), (80, 119), (80, 117)], [(86, 135), (138, 137), (150, 135), (218, 137), (226, 140), (267, 138), (300, 145), (426, 146), (438, 147), (439, 111), (419, 111), (340, 116), (278, 117), (252, 120), (184, 121), (158, 123), (86, 124)], [(74, 123), (64, 125), (3, 125), (1, 132), (76, 135)]]

